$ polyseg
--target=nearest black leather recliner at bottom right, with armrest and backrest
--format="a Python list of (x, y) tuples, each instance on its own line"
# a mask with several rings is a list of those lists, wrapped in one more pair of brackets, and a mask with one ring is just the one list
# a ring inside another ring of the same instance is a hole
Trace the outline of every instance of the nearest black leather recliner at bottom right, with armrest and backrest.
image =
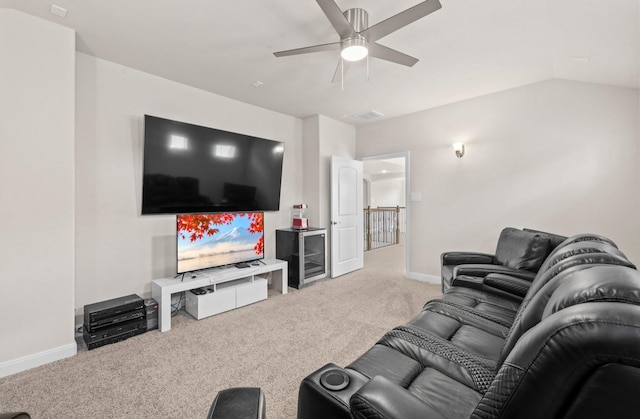
[(542, 306), (542, 320), (516, 340), (486, 390), (474, 392), (456, 379), (421, 380), (422, 374), (405, 389), (378, 376), (351, 396), (351, 414), (362, 419), (637, 417), (640, 276), (618, 266), (592, 267), (578, 276)]

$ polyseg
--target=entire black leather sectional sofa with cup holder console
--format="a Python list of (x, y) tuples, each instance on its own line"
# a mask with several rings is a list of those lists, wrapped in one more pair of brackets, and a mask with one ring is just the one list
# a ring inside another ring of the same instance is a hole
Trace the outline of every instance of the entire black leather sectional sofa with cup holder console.
[(640, 272), (602, 236), (505, 230), (511, 249), (444, 254), (442, 298), (306, 377), (298, 418), (640, 417)]

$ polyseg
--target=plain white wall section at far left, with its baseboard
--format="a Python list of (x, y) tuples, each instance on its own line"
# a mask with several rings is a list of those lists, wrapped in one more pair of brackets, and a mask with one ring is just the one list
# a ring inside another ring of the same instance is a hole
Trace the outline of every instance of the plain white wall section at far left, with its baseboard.
[(0, 9), (0, 377), (76, 353), (74, 50)]

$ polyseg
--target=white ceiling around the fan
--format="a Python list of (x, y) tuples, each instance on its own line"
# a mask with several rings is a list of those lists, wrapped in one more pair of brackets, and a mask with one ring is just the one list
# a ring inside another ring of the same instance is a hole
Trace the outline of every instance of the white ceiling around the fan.
[[(336, 0), (374, 25), (417, 0)], [(639, 87), (640, 0), (441, 0), (379, 43), (419, 58), (370, 60), (331, 83), (337, 52), (273, 52), (339, 40), (315, 0), (0, 0), (76, 30), (77, 50), (245, 103), (359, 124), (550, 78)], [(252, 87), (260, 81), (261, 87)]]

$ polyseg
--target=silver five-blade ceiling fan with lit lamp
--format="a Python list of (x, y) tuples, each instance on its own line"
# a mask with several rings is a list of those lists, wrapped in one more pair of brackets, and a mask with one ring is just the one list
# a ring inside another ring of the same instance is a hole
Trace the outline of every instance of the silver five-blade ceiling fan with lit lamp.
[(340, 57), (346, 61), (359, 61), (372, 56), (412, 67), (418, 62), (417, 58), (380, 45), (376, 41), (442, 7), (438, 0), (425, 0), (369, 27), (369, 15), (364, 9), (354, 8), (343, 12), (333, 0), (316, 1), (338, 32), (340, 41), (274, 52), (276, 57), (340, 50)]

